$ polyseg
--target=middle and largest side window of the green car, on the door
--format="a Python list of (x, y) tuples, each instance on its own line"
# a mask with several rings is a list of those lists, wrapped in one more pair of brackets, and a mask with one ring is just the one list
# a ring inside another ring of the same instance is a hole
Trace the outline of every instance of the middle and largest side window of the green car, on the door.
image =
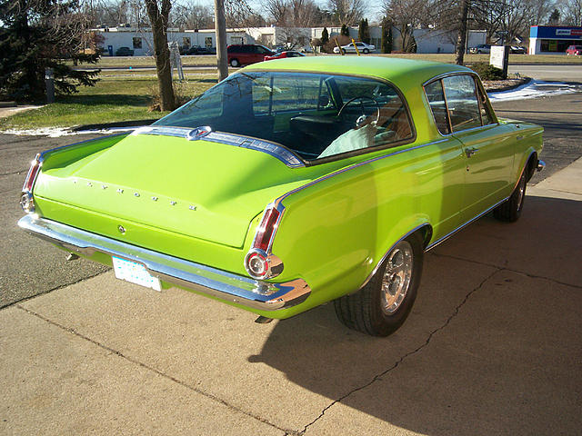
[(443, 86), (453, 132), (480, 127), (481, 113), (473, 77), (468, 74), (451, 75), (443, 79)]

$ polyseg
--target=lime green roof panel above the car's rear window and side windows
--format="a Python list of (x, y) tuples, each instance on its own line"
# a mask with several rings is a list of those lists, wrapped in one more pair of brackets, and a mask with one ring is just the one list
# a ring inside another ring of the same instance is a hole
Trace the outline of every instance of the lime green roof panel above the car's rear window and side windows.
[(306, 73), (328, 73), (367, 75), (386, 79), (398, 87), (417, 86), (440, 75), (454, 72), (470, 72), (465, 66), (416, 61), (383, 56), (306, 56), (276, 59), (268, 63), (252, 64), (245, 70), (301, 71)]

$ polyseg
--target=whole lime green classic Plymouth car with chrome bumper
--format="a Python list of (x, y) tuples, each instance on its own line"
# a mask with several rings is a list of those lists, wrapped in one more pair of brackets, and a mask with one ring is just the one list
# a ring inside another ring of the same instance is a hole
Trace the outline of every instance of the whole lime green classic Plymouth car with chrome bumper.
[(542, 128), (499, 120), (454, 64), (253, 64), (156, 123), (38, 154), (19, 221), (120, 279), (284, 319), (334, 301), (385, 336), (423, 254), (484, 213), (513, 222)]

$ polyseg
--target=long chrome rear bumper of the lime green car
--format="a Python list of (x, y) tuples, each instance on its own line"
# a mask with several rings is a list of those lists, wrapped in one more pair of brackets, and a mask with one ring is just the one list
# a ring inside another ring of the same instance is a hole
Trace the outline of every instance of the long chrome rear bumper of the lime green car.
[(150, 274), (163, 282), (206, 293), (227, 302), (236, 302), (252, 309), (263, 311), (284, 309), (304, 302), (311, 293), (311, 288), (303, 279), (285, 283), (260, 282), (115, 241), (32, 214), (21, 218), (18, 225), (25, 232), (55, 243), (71, 253), (79, 253), (89, 259), (95, 253), (122, 257), (141, 263)]

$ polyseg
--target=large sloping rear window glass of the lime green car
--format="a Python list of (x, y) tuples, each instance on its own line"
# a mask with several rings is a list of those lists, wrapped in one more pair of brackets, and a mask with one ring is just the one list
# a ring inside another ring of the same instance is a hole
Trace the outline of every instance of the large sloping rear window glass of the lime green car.
[(234, 74), (155, 125), (208, 125), (282, 144), (306, 161), (412, 138), (390, 84), (331, 74)]

